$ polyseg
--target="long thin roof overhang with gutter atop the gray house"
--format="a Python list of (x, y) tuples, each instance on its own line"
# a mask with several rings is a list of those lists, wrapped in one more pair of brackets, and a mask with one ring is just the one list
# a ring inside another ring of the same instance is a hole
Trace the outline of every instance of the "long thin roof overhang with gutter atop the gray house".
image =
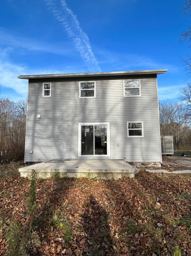
[(157, 70), (117, 71), (117, 72), (99, 72), (99, 73), (29, 75), (29, 76), (18, 76), (18, 78), (20, 78), (20, 79), (39, 79), (39, 78), (129, 76), (129, 75), (145, 75), (145, 74), (159, 75), (159, 74), (163, 74), (166, 72), (167, 72), (167, 69), (157, 69)]

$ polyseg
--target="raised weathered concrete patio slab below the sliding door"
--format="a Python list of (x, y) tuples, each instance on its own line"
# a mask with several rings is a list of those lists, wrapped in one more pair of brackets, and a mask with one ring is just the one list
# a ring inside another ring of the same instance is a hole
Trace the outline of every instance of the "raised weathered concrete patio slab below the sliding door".
[(39, 178), (59, 177), (98, 177), (100, 179), (119, 179), (134, 177), (135, 169), (122, 159), (52, 159), (19, 169), (21, 177), (30, 177), (35, 170)]

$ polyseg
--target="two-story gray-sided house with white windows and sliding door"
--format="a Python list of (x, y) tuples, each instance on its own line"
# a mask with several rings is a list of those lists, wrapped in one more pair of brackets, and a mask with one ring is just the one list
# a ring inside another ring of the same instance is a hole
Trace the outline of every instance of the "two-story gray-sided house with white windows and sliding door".
[(25, 162), (161, 162), (157, 75), (165, 72), (19, 76), (29, 80)]

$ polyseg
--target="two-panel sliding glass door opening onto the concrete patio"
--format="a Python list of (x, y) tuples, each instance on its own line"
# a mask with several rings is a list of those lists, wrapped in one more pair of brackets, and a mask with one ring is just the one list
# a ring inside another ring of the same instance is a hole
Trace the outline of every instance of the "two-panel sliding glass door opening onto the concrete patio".
[(108, 155), (108, 125), (80, 125), (81, 155)]

